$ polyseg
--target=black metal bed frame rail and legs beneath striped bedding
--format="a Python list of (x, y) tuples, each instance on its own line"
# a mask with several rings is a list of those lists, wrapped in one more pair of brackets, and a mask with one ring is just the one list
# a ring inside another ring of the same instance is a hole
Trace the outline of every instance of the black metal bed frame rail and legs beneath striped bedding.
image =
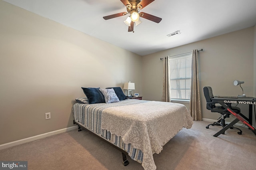
[(83, 127), (82, 125), (80, 125), (79, 123), (77, 123), (75, 120), (73, 120), (73, 124), (74, 124), (74, 125), (75, 125), (75, 124), (78, 125), (78, 132), (80, 132), (80, 131), (82, 130), (81, 128), (83, 128), (83, 129), (89, 131), (91, 134), (94, 134), (95, 136), (97, 136), (98, 138), (100, 138), (101, 140), (103, 140), (104, 142), (106, 142), (107, 144), (109, 144), (110, 146), (113, 146), (114, 148), (120, 150), (120, 151), (122, 152), (122, 158), (123, 158), (122, 163), (123, 163), (123, 165), (124, 165), (124, 166), (127, 166), (127, 165), (129, 164), (129, 161), (128, 161), (127, 158), (126, 158), (126, 155), (128, 155), (128, 153), (127, 153), (126, 151), (124, 151), (124, 150), (122, 150), (121, 148), (117, 147), (116, 145), (112, 144), (112, 143), (109, 142), (107, 139), (100, 137), (98, 134), (94, 133), (92, 130), (90, 130), (90, 129), (86, 128), (86, 127)]

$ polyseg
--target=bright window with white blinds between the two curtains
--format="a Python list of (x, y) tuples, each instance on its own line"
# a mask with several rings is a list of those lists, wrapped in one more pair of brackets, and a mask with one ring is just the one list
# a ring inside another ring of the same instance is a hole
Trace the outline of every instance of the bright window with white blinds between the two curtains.
[(170, 57), (171, 99), (190, 99), (192, 53)]

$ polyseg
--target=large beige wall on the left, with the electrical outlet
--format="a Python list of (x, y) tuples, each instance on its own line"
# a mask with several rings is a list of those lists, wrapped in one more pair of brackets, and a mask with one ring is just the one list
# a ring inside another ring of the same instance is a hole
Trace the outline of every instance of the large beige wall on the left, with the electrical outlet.
[(141, 56), (3, 1), (0, 23), (0, 144), (73, 126), (81, 87), (142, 94)]

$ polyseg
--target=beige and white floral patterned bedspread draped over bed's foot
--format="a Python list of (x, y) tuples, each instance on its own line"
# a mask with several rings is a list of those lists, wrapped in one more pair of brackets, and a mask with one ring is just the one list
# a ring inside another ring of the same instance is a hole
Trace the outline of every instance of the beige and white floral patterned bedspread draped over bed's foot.
[(192, 124), (192, 117), (184, 105), (148, 101), (104, 109), (101, 128), (142, 150), (144, 169), (156, 170), (153, 154), (160, 153), (162, 146), (175, 134), (182, 128), (191, 128)]

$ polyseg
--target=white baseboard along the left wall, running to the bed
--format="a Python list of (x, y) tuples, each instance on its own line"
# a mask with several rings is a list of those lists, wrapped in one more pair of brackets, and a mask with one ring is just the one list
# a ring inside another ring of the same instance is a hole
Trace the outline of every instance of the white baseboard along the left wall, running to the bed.
[(41, 138), (52, 136), (52, 135), (55, 135), (55, 134), (59, 134), (59, 133), (67, 132), (67, 131), (70, 131), (70, 130), (74, 130), (76, 128), (77, 128), (77, 126), (72, 126), (72, 127), (63, 128), (63, 129), (60, 129), (60, 130), (55, 130), (55, 131), (52, 131), (52, 132), (47, 132), (47, 133), (44, 133), (44, 134), (39, 134), (39, 135), (32, 136), (32, 137), (29, 137), (29, 138), (24, 138), (24, 139), (16, 140), (16, 141), (13, 141), (13, 142), (1, 144), (0, 145), (0, 150), (5, 149), (5, 148), (9, 148), (9, 147), (12, 147), (12, 146), (16, 146), (16, 145), (19, 145), (19, 144), (24, 144), (24, 143), (27, 143), (27, 142), (31, 142), (33, 140), (38, 140), (38, 139), (41, 139)]

